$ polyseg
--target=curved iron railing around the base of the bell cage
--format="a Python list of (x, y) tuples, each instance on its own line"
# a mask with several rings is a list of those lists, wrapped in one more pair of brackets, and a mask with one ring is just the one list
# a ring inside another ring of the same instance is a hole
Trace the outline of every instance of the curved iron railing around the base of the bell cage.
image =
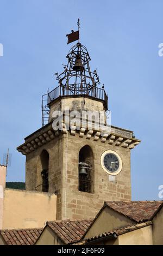
[(65, 87), (61, 87), (60, 85), (55, 88), (53, 91), (47, 94), (48, 99), (47, 103), (51, 103), (53, 100), (63, 97), (63, 96), (89, 96), (96, 99), (101, 99), (105, 103), (106, 109), (108, 109), (108, 96), (105, 93), (105, 90), (98, 87), (87, 88), (85, 85), (76, 84)]

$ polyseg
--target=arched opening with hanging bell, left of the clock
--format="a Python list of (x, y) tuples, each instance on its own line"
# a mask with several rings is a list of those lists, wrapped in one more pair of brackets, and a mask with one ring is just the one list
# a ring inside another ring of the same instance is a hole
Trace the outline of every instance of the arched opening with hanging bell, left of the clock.
[(93, 193), (94, 183), (93, 152), (90, 146), (85, 145), (79, 151), (79, 191)]

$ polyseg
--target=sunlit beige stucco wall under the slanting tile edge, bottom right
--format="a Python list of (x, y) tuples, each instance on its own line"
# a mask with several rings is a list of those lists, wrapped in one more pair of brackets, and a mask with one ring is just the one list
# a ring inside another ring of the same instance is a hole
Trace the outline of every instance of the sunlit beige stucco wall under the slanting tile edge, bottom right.
[(119, 245), (153, 245), (152, 225), (118, 236)]

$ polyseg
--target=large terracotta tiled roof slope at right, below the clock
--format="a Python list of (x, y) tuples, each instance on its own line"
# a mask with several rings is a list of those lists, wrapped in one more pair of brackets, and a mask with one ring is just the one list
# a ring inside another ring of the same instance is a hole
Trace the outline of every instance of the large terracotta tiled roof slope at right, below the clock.
[(104, 205), (136, 222), (149, 221), (162, 207), (163, 201), (107, 201)]

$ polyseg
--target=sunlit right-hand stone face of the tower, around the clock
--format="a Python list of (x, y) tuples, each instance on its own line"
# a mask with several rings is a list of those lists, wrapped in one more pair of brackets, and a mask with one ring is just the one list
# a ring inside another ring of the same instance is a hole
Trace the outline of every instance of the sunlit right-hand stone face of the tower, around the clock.
[[(95, 193), (78, 191), (78, 154), (80, 148), (89, 145), (94, 154)], [(101, 154), (114, 150), (122, 158), (122, 171), (116, 182), (109, 181), (109, 175), (102, 169)], [(67, 156), (67, 157), (66, 157)], [(64, 174), (61, 188), (61, 216), (59, 219), (93, 218), (103, 206), (104, 201), (131, 200), (130, 150), (112, 146), (101, 141), (93, 141), (79, 135), (64, 135)]]

